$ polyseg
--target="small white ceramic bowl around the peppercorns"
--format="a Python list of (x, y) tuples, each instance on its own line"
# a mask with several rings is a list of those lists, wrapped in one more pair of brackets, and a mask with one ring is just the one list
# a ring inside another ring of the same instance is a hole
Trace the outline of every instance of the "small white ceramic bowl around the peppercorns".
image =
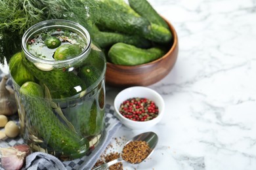
[[(120, 112), (119, 107), (123, 101), (133, 98), (133, 97), (140, 97), (140, 98), (147, 98), (151, 101), (154, 101), (156, 103), (156, 106), (158, 106), (158, 116), (152, 120), (148, 120), (145, 122), (139, 122), (134, 120), (129, 120), (128, 118), (125, 118)], [(146, 129), (149, 127), (152, 127), (156, 125), (158, 122), (160, 122), (161, 118), (163, 117), (163, 113), (165, 110), (165, 103), (163, 101), (163, 98), (161, 95), (146, 87), (142, 86), (134, 86), (131, 88), (126, 88), (125, 90), (122, 90), (116, 95), (116, 98), (114, 100), (114, 108), (116, 110), (116, 116), (117, 118), (127, 127), (131, 129)]]

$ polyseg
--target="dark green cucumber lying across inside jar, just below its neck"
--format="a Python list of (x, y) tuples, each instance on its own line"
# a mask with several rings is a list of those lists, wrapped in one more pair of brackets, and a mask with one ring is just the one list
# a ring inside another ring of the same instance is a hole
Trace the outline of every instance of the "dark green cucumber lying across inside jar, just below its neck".
[[(62, 69), (42, 71), (29, 61), (23, 52), (22, 54), (22, 62), (25, 67), (30, 70), (30, 73), (32, 73), (35, 78), (49, 88), (53, 99), (71, 97), (86, 90), (85, 82), (74, 73)], [(81, 88), (79, 91), (75, 89), (77, 86)]]

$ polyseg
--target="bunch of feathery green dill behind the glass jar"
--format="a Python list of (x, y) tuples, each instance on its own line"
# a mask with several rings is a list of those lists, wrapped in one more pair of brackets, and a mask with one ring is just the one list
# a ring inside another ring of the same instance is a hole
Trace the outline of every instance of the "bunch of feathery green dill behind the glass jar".
[(21, 50), (22, 35), (38, 22), (72, 20), (93, 35), (98, 31), (96, 23), (117, 6), (119, 0), (0, 0), (0, 63), (3, 64), (5, 58), (8, 63), (11, 56)]

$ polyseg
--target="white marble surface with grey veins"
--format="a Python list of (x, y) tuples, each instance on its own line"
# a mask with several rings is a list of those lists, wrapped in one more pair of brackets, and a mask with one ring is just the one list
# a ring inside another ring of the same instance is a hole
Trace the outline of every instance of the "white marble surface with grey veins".
[[(256, 1), (149, 0), (179, 37), (175, 67), (148, 86), (166, 109), (150, 159), (125, 169), (256, 169)], [(107, 87), (112, 104), (121, 89)], [(115, 143), (113, 140), (112, 143)]]

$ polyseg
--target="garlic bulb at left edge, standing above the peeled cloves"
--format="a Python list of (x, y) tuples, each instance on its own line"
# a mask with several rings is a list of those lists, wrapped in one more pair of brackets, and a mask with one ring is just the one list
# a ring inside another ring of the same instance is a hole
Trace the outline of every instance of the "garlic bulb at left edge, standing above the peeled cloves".
[(17, 112), (14, 91), (10, 86), (6, 86), (8, 77), (3, 76), (0, 82), (0, 114), (12, 115)]

